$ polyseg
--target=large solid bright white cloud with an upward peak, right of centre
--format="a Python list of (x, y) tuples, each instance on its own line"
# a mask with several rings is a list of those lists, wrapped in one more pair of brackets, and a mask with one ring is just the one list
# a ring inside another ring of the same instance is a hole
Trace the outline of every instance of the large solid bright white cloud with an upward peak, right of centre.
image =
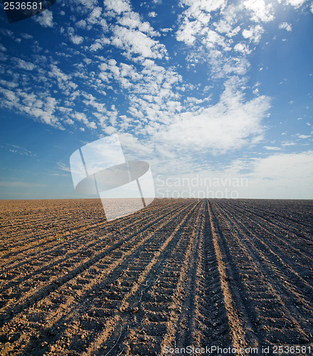
[(216, 105), (198, 112), (182, 112), (157, 127), (152, 131), (154, 142), (169, 145), (171, 150), (214, 153), (259, 142), (263, 136), (262, 118), (270, 108), (269, 98), (260, 96), (245, 101), (234, 82), (235, 78), (226, 83)]

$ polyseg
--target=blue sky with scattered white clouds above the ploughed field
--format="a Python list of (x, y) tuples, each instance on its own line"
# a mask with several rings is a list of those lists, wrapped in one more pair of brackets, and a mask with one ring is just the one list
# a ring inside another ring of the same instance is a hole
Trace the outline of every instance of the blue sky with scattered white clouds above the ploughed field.
[(206, 177), (213, 197), (228, 184), (313, 199), (311, 1), (73, 0), (0, 17), (1, 199), (84, 197), (70, 155), (115, 132), (159, 197)]

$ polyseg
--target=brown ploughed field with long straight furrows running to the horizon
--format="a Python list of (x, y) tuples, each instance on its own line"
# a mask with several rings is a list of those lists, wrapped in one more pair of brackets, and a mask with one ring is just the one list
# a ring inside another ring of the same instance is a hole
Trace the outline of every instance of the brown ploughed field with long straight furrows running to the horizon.
[(0, 355), (313, 353), (313, 201), (0, 209)]

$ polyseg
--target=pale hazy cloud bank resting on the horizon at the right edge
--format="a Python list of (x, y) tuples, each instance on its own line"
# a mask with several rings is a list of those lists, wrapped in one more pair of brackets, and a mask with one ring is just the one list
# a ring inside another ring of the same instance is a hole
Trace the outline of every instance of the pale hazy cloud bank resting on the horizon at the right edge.
[(313, 199), (313, 151), (235, 159), (223, 170), (199, 173), (238, 182), (244, 179), (245, 184), (229, 188), (241, 199)]

